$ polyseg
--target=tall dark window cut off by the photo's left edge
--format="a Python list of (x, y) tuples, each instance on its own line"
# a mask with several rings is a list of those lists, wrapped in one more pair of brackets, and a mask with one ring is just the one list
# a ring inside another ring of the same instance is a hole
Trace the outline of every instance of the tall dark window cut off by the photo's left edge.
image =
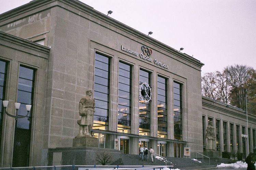
[(0, 146), (1, 146), (1, 136), (2, 136), (2, 125), (3, 125), (3, 102), (2, 101), (4, 100), (6, 70), (7, 70), (7, 63), (4, 61), (0, 61)]

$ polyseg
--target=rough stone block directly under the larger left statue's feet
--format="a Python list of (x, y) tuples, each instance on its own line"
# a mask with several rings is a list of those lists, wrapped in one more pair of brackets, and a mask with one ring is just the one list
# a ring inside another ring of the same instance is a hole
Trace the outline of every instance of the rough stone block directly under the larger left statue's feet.
[(73, 147), (99, 147), (99, 141), (91, 136), (76, 136), (73, 139)]

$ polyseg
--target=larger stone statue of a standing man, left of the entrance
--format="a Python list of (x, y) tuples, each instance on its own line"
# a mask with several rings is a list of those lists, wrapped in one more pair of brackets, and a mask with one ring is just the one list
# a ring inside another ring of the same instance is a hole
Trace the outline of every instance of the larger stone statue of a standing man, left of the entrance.
[(93, 126), (93, 114), (95, 112), (95, 100), (91, 97), (93, 92), (86, 91), (86, 96), (79, 102), (79, 115), (81, 120), (77, 120), (79, 124), (79, 134), (77, 136), (91, 136), (90, 130)]

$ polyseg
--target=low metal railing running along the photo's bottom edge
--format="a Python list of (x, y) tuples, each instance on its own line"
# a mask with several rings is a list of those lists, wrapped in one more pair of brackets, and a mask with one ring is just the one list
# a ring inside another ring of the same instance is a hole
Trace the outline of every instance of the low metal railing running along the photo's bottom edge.
[(63, 166), (40, 166), (40, 167), (11, 167), (11, 168), (0, 168), (0, 170), (162, 170), (173, 166), (102, 166), (102, 165), (63, 165)]

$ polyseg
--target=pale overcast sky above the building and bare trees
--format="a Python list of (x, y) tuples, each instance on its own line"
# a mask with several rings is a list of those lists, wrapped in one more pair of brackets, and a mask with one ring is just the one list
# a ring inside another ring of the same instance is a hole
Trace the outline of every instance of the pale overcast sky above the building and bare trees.
[[(0, 14), (29, 0), (1, 0)], [(240, 64), (256, 69), (256, 0), (81, 0), (95, 10), (182, 51), (202, 73)]]

